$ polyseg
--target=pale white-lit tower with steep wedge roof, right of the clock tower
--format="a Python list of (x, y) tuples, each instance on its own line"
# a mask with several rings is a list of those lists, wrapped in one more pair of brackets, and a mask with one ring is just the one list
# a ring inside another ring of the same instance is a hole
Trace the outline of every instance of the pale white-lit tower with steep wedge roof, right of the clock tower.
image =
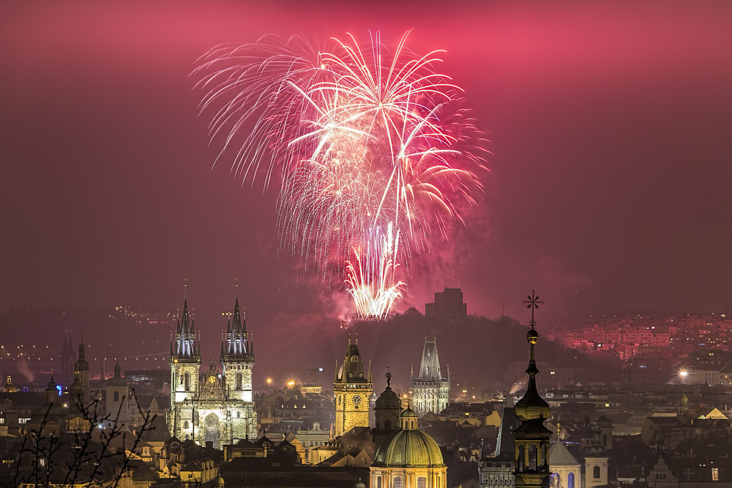
[(427, 341), (425, 337), (425, 349), (422, 351), (422, 364), (417, 373), (419, 378), (414, 378), (412, 370), (409, 380), (409, 389), (414, 409), (419, 416), (427, 412), (441, 413), (447, 408), (450, 393), (450, 375), (442, 376), (440, 359), (437, 355), (437, 342)]

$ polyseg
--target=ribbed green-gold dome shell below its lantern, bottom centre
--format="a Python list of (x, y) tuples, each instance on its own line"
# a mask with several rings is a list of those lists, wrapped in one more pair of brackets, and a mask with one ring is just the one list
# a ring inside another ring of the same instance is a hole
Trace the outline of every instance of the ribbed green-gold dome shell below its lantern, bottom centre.
[(442, 453), (429, 435), (417, 429), (401, 429), (378, 446), (373, 464), (387, 468), (442, 467)]

